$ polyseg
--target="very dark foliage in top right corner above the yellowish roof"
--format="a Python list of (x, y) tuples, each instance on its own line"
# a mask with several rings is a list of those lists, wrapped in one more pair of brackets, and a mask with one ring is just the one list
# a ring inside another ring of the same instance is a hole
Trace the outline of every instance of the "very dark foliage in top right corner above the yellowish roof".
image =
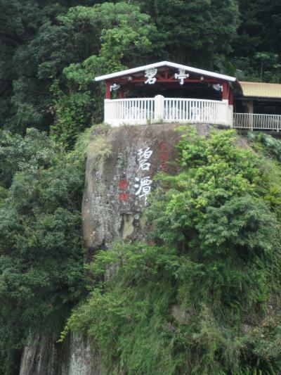
[(280, 82), (279, 0), (239, 0), (240, 27), (233, 40), (233, 60), (241, 80)]

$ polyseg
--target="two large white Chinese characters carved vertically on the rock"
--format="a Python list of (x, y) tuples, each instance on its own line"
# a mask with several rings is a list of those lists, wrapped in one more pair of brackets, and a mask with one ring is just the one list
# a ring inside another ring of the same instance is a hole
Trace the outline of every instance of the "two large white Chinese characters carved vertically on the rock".
[(148, 172), (150, 170), (150, 163), (148, 160), (152, 153), (153, 151), (150, 150), (150, 147), (145, 149), (140, 148), (137, 152), (138, 167), (136, 172), (138, 173), (138, 176), (135, 177), (136, 183), (133, 186), (136, 189), (135, 195), (138, 196), (138, 198), (144, 198), (145, 204), (147, 203), (148, 194), (151, 190), (152, 179), (150, 179), (150, 176), (148, 175), (142, 177), (141, 172)]

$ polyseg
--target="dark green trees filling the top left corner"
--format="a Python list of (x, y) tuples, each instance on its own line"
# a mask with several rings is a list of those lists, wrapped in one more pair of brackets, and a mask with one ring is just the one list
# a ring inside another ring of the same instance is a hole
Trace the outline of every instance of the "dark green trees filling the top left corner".
[(77, 4), (75, 0), (0, 1), (0, 127), (23, 134), (28, 126), (48, 129), (53, 122), (51, 83), (65, 66), (89, 56), (86, 34), (74, 48), (72, 30), (56, 20)]

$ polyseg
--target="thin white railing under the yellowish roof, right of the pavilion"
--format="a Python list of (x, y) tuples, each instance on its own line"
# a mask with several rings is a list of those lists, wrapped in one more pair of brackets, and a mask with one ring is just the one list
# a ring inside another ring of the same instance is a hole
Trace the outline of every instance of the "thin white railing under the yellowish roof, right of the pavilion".
[(272, 130), (279, 132), (281, 129), (281, 115), (263, 115), (261, 113), (234, 113), (233, 127), (249, 130)]

